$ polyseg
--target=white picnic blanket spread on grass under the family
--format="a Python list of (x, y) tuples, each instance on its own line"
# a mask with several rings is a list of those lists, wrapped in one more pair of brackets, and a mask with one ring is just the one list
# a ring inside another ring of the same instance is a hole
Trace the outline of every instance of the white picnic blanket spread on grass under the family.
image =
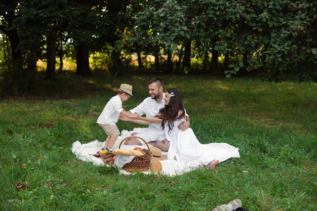
[[(123, 130), (121, 132), (121, 136), (118, 136), (115, 144), (113, 145), (113, 149), (118, 148), (120, 143), (122, 142), (122, 140), (124, 140), (126, 137), (131, 136), (131, 133), (134, 133), (134, 132), (140, 133), (142, 130), (144, 130), (144, 128), (135, 128), (133, 131)], [(227, 143), (210, 143), (208, 145), (211, 145), (213, 147), (218, 147), (218, 148), (234, 148), (233, 146), (231, 146)], [(71, 151), (75, 154), (75, 156), (78, 159), (80, 159), (82, 161), (93, 162), (93, 164), (95, 164), (95, 165), (105, 165), (105, 163), (103, 162), (103, 159), (97, 158), (97, 157), (92, 155), (92, 154), (95, 154), (97, 151), (100, 151), (103, 146), (104, 146), (104, 142), (100, 142), (98, 140), (95, 140), (95, 141), (92, 141), (92, 142), (89, 142), (86, 144), (82, 144), (79, 141), (75, 141), (72, 144)], [(136, 147), (136, 146), (127, 146), (127, 145), (122, 144), (120, 148), (133, 149), (134, 147)], [(140, 146), (138, 146), (138, 147), (140, 147)], [(142, 145), (141, 148), (146, 149), (147, 148), (146, 144)], [(167, 154), (167, 152), (162, 152), (162, 154)], [(240, 155), (236, 156), (236, 157), (240, 157)], [(176, 176), (176, 175), (181, 175), (181, 174), (186, 173), (186, 172), (190, 172), (190, 171), (197, 168), (197, 167), (193, 166), (191, 163), (180, 162), (180, 161), (172, 160), (172, 159), (163, 160), (160, 162), (162, 163), (163, 170), (161, 173), (155, 173), (155, 174), (163, 174), (163, 175), (168, 175), (171, 177)], [(125, 175), (131, 174), (129, 172), (122, 170), (121, 168), (120, 168), (120, 173), (125, 174)], [(143, 173), (150, 174), (151, 172), (149, 170), (148, 172), (143, 172)]]

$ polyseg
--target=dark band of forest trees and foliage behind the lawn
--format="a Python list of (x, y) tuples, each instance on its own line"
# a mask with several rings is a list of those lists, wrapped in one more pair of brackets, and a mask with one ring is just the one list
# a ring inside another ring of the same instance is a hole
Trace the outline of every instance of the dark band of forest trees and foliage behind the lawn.
[(100, 70), (106, 78), (215, 74), (281, 82), (296, 75), (317, 82), (316, 8), (312, 0), (1, 1), (1, 95), (41, 89), (41, 70), (46, 80)]

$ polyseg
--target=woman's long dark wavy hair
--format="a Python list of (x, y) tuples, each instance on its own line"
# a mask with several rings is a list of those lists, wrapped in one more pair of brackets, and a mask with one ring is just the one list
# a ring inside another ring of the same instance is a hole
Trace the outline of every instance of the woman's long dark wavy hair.
[[(163, 119), (162, 128), (165, 128), (165, 123), (168, 122), (169, 129), (172, 130), (174, 128), (174, 121), (177, 119), (181, 119), (185, 117), (185, 109), (183, 107), (182, 98), (180, 96), (180, 92), (176, 88), (168, 89), (167, 92), (171, 95), (174, 93), (174, 96), (170, 98), (169, 105), (165, 105), (165, 107), (160, 109), (159, 117)], [(178, 116), (178, 111), (182, 111), (182, 114)]]

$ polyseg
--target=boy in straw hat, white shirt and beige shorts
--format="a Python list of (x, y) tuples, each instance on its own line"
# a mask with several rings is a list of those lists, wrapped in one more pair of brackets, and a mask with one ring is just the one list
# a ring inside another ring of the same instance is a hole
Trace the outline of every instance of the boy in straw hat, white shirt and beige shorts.
[(103, 111), (97, 119), (97, 123), (102, 127), (108, 135), (102, 150), (106, 149), (108, 154), (112, 152), (112, 147), (120, 135), (120, 131), (116, 126), (116, 122), (120, 115), (133, 116), (130, 112), (122, 108), (122, 103), (127, 101), (132, 95), (132, 86), (122, 83), (118, 89), (117, 95), (113, 96), (105, 105)]

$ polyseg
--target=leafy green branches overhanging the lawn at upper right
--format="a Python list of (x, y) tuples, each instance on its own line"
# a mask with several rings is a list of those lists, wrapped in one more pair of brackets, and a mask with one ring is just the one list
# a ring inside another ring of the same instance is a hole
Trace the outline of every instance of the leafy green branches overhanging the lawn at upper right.
[[(227, 77), (257, 71), (280, 82), (283, 73), (316, 82), (316, 2), (285, 1), (147, 1), (135, 11), (124, 33), (125, 45), (156, 46), (173, 51), (192, 40), (196, 58), (219, 51), (230, 65)], [(127, 35), (128, 34), (128, 35)], [(123, 44), (123, 43), (121, 43)]]

